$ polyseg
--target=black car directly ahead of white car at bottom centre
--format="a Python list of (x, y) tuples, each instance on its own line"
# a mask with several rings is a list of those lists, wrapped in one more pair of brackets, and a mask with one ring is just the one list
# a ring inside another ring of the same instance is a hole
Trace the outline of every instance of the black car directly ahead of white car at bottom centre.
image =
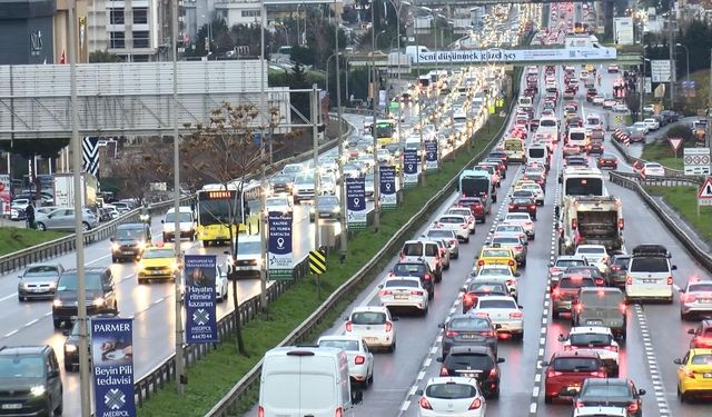
[(454, 346), (442, 363), (441, 376), (475, 378), (487, 398), (500, 397), (500, 365), (504, 358), (497, 358), (486, 346)]

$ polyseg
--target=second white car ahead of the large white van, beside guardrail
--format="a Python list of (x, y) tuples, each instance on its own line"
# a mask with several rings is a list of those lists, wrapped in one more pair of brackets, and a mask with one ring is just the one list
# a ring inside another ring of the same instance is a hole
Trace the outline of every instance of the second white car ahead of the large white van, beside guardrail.
[(352, 310), (344, 330), (346, 335), (364, 339), (368, 348), (387, 348), (396, 350), (395, 317), (386, 307), (359, 306)]

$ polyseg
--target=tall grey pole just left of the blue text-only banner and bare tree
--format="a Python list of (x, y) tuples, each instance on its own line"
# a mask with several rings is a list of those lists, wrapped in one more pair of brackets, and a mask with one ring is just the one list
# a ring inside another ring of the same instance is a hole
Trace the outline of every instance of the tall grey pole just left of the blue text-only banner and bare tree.
[[(178, 138), (178, 0), (172, 1), (171, 34), (174, 47), (174, 208), (176, 210), (174, 224), (174, 252), (176, 264), (180, 265), (180, 152)], [(184, 350), (182, 350), (182, 294), (180, 292), (180, 270), (174, 276), (174, 290), (176, 298), (176, 388), (179, 395), (184, 394), (187, 383)]]

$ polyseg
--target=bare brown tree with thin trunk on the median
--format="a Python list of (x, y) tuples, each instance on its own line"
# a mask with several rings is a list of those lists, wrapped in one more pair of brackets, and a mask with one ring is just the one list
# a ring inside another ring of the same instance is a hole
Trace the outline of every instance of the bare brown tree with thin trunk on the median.
[[(240, 207), (240, 196), (249, 175), (259, 172), (259, 168), (267, 163), (265, 141), (255, 141), (255, 132), (274, 129), (279, 120), (277, 109), (270, 109), (264, 126), (257, 126), (261, 119), (257, 108), (253, 105), (231, 105), (222, 102), (210, 112), (208, 125), (197, 125), (194, 132), (186, 137), (180, 145), (182, 178), (187, 178), (194, 188), (206, 182), (218, 182), (225, 190), (230, 185), (237, 188), (237, 198), (228, 206), (228, 218), (225, 219), (230, 245), (229, 254), (233, 265), (239, 250), (239, 224), (237, 216)], [(263, 214), (259, 214), (260, 220)], [(261, 221), (259, 222), (261, 225)], [(235, 307), (237, 349), (247, 356), (239, 317), (237, 299), (237, 280), (233, 279), (233, 305)]]

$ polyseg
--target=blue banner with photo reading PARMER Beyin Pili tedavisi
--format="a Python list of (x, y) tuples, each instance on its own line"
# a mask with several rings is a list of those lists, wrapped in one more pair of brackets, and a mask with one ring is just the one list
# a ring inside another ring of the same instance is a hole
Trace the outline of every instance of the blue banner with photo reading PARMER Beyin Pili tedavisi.
[(95, 416), (136, 416), (134, 400), (134, 320), (92, 318), (90, 321)]

